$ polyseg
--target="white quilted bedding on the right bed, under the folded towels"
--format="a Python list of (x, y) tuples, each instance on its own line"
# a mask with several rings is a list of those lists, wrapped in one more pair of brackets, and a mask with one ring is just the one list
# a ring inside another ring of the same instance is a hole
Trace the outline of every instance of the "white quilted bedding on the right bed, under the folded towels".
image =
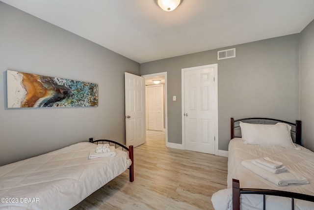
[[(228, 156), (228, 189), (221, 190), (212, 196), (212, 203), (216, 210), (226, 210), (232, 207), (232, 179), (240, 181), (240, 188), (275, 189), (297, 192), (314, 196), (314, 152), (298, 146), (301, 150), (286, 149), (273, 146), (257, 146), (244, 144), (241, 138), (235, 138), (229, 143)], [(243, 160), (270, 157), (283, 162), (288, 171), (293, 171), (305, 177), (309, 184), (289, 184), (277, 186), (241, 165)], [(242, 210), (262, 209), (262, 195), (241, 195)], [(290, 209), (290, 199), (266, 196), (266, 209)], [(295, 200), (295, 209), (313, 210), (314, 203)]]

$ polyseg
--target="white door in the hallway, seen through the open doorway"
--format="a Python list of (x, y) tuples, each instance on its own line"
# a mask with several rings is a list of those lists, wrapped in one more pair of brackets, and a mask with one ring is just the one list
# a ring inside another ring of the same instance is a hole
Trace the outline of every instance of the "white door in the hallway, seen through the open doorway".
[(163, 130), (163, 85), (147, 86), (148, 129)]

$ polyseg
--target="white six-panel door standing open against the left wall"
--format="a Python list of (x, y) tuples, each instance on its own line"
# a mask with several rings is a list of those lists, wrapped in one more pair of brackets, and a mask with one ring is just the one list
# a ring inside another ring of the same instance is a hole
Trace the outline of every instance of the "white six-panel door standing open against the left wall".
[(126, 145), (137, 147), (146, 142), (145, 81), (143, 77), (125, 73)]

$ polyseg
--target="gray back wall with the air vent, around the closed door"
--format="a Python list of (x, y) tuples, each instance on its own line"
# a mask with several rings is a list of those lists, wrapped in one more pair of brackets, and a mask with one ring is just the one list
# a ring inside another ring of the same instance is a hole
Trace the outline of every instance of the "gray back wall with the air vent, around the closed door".
[(187, 67), (218, 63), (219, 150), (228, 150), (231, 117), (299, 119), (299, 34), (224, 49), (234, 47), (232, 59), (217, 60), (217, 49), (140, 64), (141, 75), (167, 71), (169, 142), (182, 144), (181, 69)]

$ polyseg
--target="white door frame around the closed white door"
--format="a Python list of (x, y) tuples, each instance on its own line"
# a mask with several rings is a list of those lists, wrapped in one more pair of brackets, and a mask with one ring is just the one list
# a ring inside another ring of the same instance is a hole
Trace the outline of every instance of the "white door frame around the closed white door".
[(214, 119), (214, 132), (215, 132), (215, 155), (218, 155), (218, 63), (209, 64), (209, 65), (202, 65), (202, 66), (194, 66), (189, 68), (181, 69), (181, 85), (182, 85), (182, 147), (185, 150), (185, 118), (184, 110), (185, 110), (185, 97), (184, 97), (184, 72), (191, 71), (191, 70), (198, 70), (204, 68), (212, 68), (214, 67), (214, 94), (215, 94), (215, 119)]

